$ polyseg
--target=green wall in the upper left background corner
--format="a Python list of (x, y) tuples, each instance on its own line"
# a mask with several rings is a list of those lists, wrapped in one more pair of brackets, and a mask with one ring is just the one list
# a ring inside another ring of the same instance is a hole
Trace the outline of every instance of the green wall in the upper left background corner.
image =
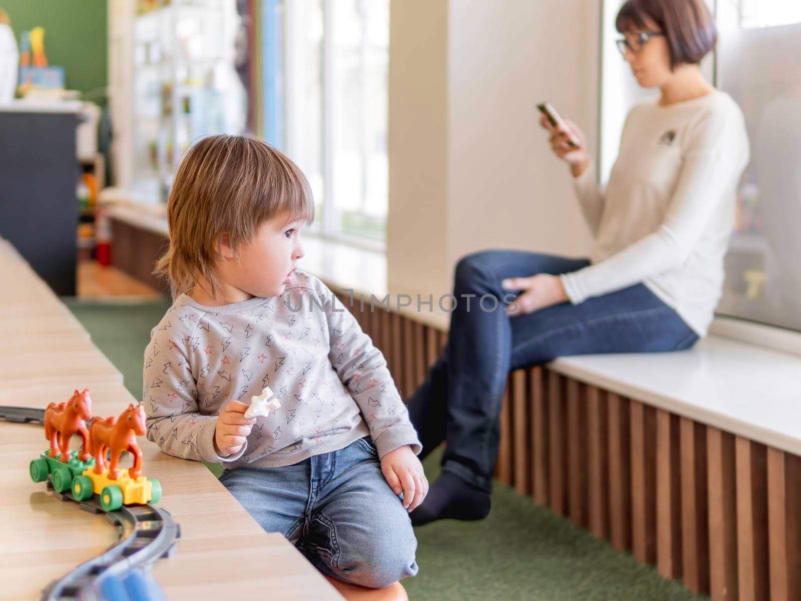
[(17, 42), (22, 31), (45, 28), (47, 62), (64, 67), (68, 90), (106, 87), (106, 0), (0, 0), (0, 8), (8, 13)]

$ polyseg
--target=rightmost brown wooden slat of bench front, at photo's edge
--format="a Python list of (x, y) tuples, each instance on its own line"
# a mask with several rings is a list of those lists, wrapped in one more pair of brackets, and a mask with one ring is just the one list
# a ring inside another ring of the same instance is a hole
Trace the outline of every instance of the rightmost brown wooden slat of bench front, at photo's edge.
[(801, 598), (801, 458), (767, 448), (771, 601)]

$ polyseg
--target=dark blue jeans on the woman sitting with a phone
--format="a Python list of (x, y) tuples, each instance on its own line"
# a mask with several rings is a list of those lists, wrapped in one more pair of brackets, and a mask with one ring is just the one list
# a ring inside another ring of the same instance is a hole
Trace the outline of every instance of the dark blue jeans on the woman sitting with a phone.
[[(587, 259), (536, 252), (485, 251), (459, 261), (454, 277), (456, 309), (448, 344), (420, 387), (409, 397), (409, 417), (421, 438), (421, 458), (445, 441), (442, 468), (491, 490), (500, 438), (501, 401), (509, 371), (589, 353), (651, 353), (688, 349), (698, 335), (653, 292), (636, 284), (507, 317), (501, 288), (508, 277), (574, 272)], [(470, 308), (461, 295), (474, 294)], [(479, 300), (486, 294), (499, 302)]]

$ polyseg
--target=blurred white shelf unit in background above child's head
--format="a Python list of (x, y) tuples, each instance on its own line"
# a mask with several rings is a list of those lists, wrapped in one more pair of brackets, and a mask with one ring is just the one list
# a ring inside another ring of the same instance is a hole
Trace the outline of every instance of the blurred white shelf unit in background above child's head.
[(194, 139), (244, 131), (241, 26), (231, 0), (110, 0), (112, 168), (131, 200), (166, 202)]

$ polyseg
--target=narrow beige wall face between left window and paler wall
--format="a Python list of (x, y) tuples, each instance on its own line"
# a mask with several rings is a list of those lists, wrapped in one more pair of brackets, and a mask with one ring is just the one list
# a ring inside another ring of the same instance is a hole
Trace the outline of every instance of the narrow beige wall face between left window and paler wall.
[(448, 2), (390, 2), (387, 277), (393, 294), (447, 285)]

